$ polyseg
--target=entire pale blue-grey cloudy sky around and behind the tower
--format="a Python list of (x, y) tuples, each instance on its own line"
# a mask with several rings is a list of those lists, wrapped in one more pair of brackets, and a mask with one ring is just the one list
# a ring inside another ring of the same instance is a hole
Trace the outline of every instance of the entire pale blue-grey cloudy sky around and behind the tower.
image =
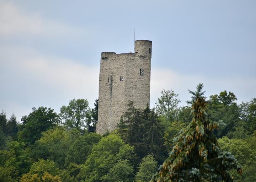
[(256, 97), (256, 1), (0, 0), (0, 109), (20, 120), (32, 107), (56, 112), (98, 97), (101, 52), (153, 41), (150, 106), (160, 91), (204, 84), (206, 96)]

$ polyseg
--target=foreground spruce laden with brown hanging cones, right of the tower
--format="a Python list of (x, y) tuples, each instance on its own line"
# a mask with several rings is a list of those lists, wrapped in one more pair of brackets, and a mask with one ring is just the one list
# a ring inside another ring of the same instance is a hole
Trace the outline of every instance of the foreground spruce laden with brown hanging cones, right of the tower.
[(196, 92), (190, 91), (193, 119), (175, 139), (177, 144), (151, 182), (232, 182), (230, 169), (242, 173), (235, 157), (222, 152), (218, 146), (212, 130), (217, 129), (221, 122), (206, 119), (207, 102), (202, 87), (199, 84)]

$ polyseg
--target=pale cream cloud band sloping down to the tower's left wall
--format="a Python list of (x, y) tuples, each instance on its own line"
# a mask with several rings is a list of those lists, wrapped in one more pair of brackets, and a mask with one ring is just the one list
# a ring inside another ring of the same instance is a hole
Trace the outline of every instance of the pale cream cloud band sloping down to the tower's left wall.
[[(54, 56), (42, 55), (33, 49), (1, 48), (4, 57), (2, 69), (18, 72), (20, 75), (29, 75), (49, 87), (83, 90), (85, 94), (95, 93), (98, 87), (99, 69), (96, 66), (87, 66)], [(90, 86), (91, 89), (86, 90)]]

